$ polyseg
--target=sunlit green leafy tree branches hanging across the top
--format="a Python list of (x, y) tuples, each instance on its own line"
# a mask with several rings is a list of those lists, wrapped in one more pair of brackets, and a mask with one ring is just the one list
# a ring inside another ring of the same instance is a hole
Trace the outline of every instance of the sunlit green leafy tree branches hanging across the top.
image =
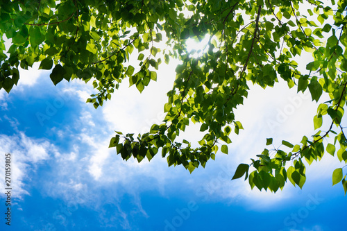
[[(287, 180), (303, 187), (303, 160), (311, 164), (326, 151), (347, 162), (341, 124), (347, 97), (346, 7), (344, 0), (3, 0), (0, 89), (10, 92), (19, 80), (18, 68), (40, 62), (40, 69), (53, 68), (55, 85), (63, 79), (92, 80), (98, 93), (87, 102), (97, 108), (122, 80), (142, 92), (157, 79), (163, 61), (178, 59), (162, 124), (139, 135), (117, 132), (110, 147), (124, 160), (133, 156), (139, 162), (161, 152), (169, 166), (182, 164), (192, 172), (219, 150), (228, 154), (230, 133), (243, 129), (234, 110), (247, 96), (248, 84), (273, 87), (282, 78), (289, 88), (309, 91), (312, 101), (322, 94), (330, 97), (314, 116), (316, 133), (300, 144), (282, 141), (285, 148), (265, 148), (250, 164), (240, 164), (232, 179), (245, 176), (252, 188), (275, 192)], [(3, 35), (12, 42), (8, 51)], [(208, 44), (200, 55), (188, 51), (188, 38), (205, 36)], [(161, 50), (163, 37), (167, 49)], [(134, 50), (136, 68), (128, 65)], [(312, 53), (313, 61), (301, 73), (296, 58), (303, 51)], [(323, 118), (331, 121), (326, 131), (320, 130)], [(176, 139), (189, 123), (201, 124), (198, 146)], [(333, 144), (325, 144), (329, 136)], [(332, 173), (333, 185), (338, 182), (346, 194), (341, 168)]]

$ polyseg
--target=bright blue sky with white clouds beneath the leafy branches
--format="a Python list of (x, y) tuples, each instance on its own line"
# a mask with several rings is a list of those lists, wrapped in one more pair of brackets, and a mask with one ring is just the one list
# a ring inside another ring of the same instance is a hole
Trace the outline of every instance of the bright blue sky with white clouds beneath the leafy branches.
[[(164, 66), (158, 82), (142, 94), (121, 85), (102, 108), (85, 103), (90, 84), (51, 83), (49, 71), (21, 71), (10, 94), (0, 90), (0, 170), (12, 154), (11, 227), (1, 230), (344, 230), (346, 196), (332, 187), (336, 157), (307, 167), (303, 189), (290, 182), (283, 191), (250, 189), (233, 180), (241, 162), (260, 154), (266, 137), (300, 142), (313, 134), (316, 103), (284, 83), (253, 87), (237, 119), (245, 130), (232, 136), (229, 155), (219, 153), (192, 174), (168, 167), (160, 155), (151, 162), (125, 162), (108, 148), (114, 130), (146, 132), (160, 123), (166, 92), (175, 78), (175, 62)], [(295, 87), (294, 87), (295, 88)], [(326, 97), (321, 101), (325, 101)], [(329, 121), (326, 121), (325, 128)], [(196, 142), (199, 126), (182, 139)], [(4, 191), (1, 180), (1, 191)], [(1, 214), (5, 195), (1, 194)], [(4, 216), (4, 215), (2, 215)]]

